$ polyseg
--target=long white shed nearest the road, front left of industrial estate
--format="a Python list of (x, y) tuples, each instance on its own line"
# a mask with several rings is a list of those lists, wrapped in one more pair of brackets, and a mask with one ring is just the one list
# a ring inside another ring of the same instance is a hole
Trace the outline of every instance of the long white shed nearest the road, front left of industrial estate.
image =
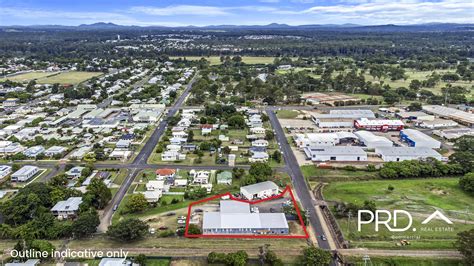
[(312, 161), (367, 161), (367, 153), (360, 147), (352, 146), (327, 146), (305, 147), (306, 158)]

